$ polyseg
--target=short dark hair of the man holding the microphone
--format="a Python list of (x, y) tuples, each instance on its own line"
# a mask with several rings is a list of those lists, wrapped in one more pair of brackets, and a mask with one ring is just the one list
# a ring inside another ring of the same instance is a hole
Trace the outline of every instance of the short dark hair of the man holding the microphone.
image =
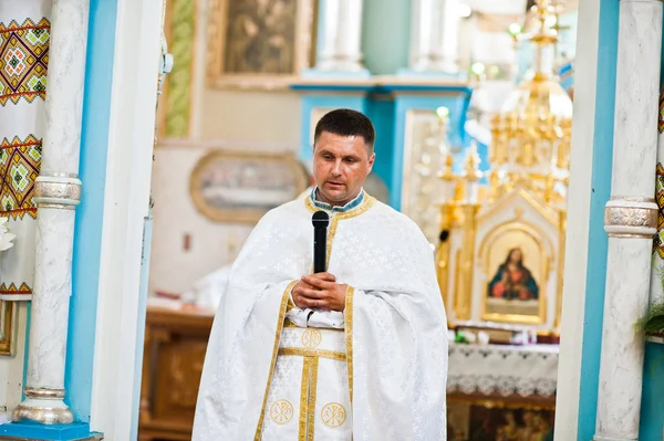
[(376, 130), (371, 119), (364, 114), (350, 108), (338, 108), (329, 112), (315, 125), (313, 145), (318, 143), (323, 132), (340, 136), (362, 136), (369, 150), (373, 153)]

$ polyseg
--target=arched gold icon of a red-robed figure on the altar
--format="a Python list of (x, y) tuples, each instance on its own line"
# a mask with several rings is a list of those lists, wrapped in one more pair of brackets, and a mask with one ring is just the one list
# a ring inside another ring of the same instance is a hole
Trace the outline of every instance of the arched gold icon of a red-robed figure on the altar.
[(547, 318), (549, 261), (537, 228), (508, 222), (487, 234), (479, 246), (485, 283), (481, 319), (540, 325)]

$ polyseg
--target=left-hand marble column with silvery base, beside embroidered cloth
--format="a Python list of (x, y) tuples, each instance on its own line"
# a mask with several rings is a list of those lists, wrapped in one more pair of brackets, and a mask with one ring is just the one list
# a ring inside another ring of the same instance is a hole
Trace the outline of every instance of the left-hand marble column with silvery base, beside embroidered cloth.
[(39, 206), (25, 400), (14, 421), (70, 423), (64, 363), (71, 296), (89, 0), (53, 0), (46, 129), (34, 200)]

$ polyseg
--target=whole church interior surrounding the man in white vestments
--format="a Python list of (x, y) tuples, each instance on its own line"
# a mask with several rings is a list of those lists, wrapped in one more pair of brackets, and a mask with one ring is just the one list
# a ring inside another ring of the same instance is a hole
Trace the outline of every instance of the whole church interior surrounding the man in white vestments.
[(1, 0), (0, 440), (191, 440), (230, 269), (336, 108), (435, 256), (447, 440), (664, 439), (662, 9)]

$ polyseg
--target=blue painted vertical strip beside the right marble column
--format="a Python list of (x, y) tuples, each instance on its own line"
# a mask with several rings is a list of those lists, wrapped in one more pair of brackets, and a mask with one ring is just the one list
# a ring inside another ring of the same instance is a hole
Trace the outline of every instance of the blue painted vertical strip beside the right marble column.
[[(611, 197), (613, 164), (613, 114), (615, 104), (615, 63), (618, 59), (619, 2), (601, 0), (596, 72), (595, 120), (590, 199), (588, 279), (579, 396), (578, 440), (594, 434), (600, 353), (604, 311), (608, 237), (604, 232), (604, 204)], [(580, 293), (581, 294), (581, 293)]]

